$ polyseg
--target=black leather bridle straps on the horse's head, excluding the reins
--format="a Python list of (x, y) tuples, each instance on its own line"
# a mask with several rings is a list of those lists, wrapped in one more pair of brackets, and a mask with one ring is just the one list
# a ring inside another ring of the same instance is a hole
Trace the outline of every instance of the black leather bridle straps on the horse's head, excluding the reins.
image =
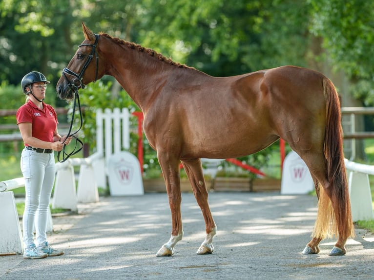
[[(99, 69), (99, 57), (98, 57), (97, 52), (96, 52), (96, 46), (97, 46), (98, 41), (99, 41), (99, 35), (95, 34), (95, 42), (93, 44), (81, 44), (81, 45), (78, 46), (78, 48), (80, 48), (82, 46), (92, 47), (91, 53), (89, 54), (89, 56), (87, 57), (87, 60), (83, 64), (81, 73), (77, 74), (74, 71), (71, 71), (67, 67), (63, 68), (63, 70), (62, 70), (62, 74), (63, 74), (63, 77), (65, 77), (65, 79), (67, 81), (67, 85), (74, 92), (77, 92), (80, 87), (85, 88), (85, 85), (82, 82), (83, 74), (86, 71), (86, 69), (87, 69), (88, 65), (90, 64), (91, 60), (93, 59), (93, 54), (94, 53), (95, 53), (95, 57), (96, 57), (96, 76), (95, 76), (94, 82), (97, 80), (98, 69)], [(72, 81), (70, 81), (69, 79), (67, 79), (66, 74), (74, 76), (75, 78)]]

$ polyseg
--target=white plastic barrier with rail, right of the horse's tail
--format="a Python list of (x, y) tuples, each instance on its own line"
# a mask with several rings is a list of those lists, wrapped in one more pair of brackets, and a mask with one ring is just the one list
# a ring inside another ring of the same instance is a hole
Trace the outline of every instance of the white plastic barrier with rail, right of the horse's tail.
[(353, 221), (374, 219), (369, 175), (374, 175), (374, 166), (345, 159)]

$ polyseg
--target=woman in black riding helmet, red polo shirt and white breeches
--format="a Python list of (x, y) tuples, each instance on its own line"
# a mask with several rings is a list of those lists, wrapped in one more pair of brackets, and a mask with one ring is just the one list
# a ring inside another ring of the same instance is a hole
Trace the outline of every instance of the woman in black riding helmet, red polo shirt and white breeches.
[[(61, 136), (57, 130), (57, 114), (43, 102), (49, 81), (37, 71), (26, 74), (21, 87), (26, 103), (17, 111), (17, 124), (25, 145), (21, 155), (21, 171), (25, 180), (25, 210), (23, 212), (23, 259), (42, 259), (61, 256), (63, 251), (49, 246), (46, 236), (48, 207), (55, 180), (53, 151), (61, 151), (71, 137)], [(34, 221), (38, 213), (36, 243)]]

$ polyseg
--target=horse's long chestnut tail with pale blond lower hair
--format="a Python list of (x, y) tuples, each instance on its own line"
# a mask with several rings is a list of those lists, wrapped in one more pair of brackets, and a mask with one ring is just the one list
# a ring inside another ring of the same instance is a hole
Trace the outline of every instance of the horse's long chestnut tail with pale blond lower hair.
[(354, 236), (354, 226), (344, 164), (340, 101), (332, 81), (323, 78), (322, 83), (327, 118), (324, 154), (330, 186), (326, 192), (318, 184), (318, 214), (312, 236), (324, 239), (339, 235), (340, 238), (347, 239)]

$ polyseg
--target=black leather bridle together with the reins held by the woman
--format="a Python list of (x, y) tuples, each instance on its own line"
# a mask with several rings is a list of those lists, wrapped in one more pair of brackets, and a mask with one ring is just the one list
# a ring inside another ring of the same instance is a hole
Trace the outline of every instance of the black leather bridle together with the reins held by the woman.
[[(83, 149), (82, 140), (80, 140), (78, 137), (75, 136), (75, 134), (77, 134), (78, 131), (81, 130), (82, 125), (83, 125), (83, 116), (82, 116), (82, 110), (81, 110), (81, 102), (79, 100), (79, 95), (78, 95), (78, 89), (79, 88), (82, 88), (82, 89), (85, 88), (85, 85), (83, 84), (83, 81), (82, 81), (83, 74), (86, 71), (86, 69), (87, 69), (88, 65), (90, 64), (91, 60), (93, 59), (94, 54), (95, 54), (95, 57), (96, 57), (96, 76), (95, 76), (95, 80), (93, 82), (95, 82), (97, 80), (98, 70), (99, 70), (99, 57), (98, 57), (97, 52), (96, 52), (96, 46), (97, 46), (98, 41), (99, 41), (99, 35), (95, 34), (95, 42), (93, 44), (81, 44), (81, 45), (78, 46), (78, 48), (80, 48), (82, 46), (92, 47), (91, 53), (88, 55), (87, 60), (83, 64), (81, 73), (77, 74), (74, 71), (71, 71), (67, 67), (63, 68), (63, 70), (62, 70), (62, 75), (63, 75), (63, 77), (65, 77), (65, 80), (67, 81), (67, 86), (72, 91), (74, 91), (73, 116), (71, 117), (70, 128), (69, 128), (69, 132), (66, 135), (66, 138), (73, 137), (76, 140), (76, 142), (75, 142), (75, 147), (74, 147), (74, 149), (71, 153), (66, 153), (65, 152), (66, 145), (63, 146), (63, 148), (62, 148), (62, 160), (60, 160), (61, 151), (59, 151), (58, 154), (57, 154), (57, 160), (59, 162), (64, 162), (65, 160), (70, 158), (70, 156), (77, 154), (78, 152), (80, 152)], [(75, 78), (72, 81), (70, 81), (69, 79), (67, 79), (66, 75), (70, 75), (70, 76), (73, 76)], [(79, 108), (79, 115), (80, 115), (81, 124), (80, 124), (80, 127), (78, 128), (78, 130), (76, 132), (71, 133), (71, 129), (73, 127), (73, 122), (74, 122), (74, 114), (75, 114), (75, 107), (76, 107), (77, 101), (78, 101), (78, 108)], [(62, 143), (64, 143), (66, 141), (66, 138)], [(78, 142), (81, 144), (81, 147), (77, 150)]]

